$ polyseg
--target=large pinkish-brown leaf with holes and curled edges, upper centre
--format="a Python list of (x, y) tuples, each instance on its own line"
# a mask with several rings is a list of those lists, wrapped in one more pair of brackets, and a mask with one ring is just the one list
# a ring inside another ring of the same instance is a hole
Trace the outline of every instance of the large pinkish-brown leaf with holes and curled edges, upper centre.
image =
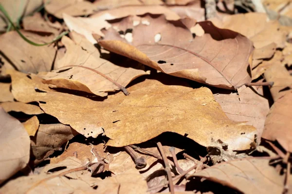
[(207, 21), (200, 25), (208, 33), (193, 38), (185, 26), (194, 25), (190, 20), (170, 22), (164, 16), (146, 15), (142, 19), (147, 25), (133, 26), (132, 19), (112, 23), (123, 31), (132, 29), (131, 42), (109, 29), (99, 44), (164, 73), (220, 88), (238, 88), (251, 81), (252, 42), (237, 32), (216, 28)]

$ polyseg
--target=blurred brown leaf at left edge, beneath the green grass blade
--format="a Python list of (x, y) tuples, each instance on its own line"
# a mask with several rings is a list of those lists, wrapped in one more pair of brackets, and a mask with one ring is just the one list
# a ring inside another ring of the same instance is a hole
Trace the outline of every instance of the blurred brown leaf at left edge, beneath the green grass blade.
[[(53, 39), (32, 32), (21, 31), (21, 33), (37, 43), (49, 42)], [(36, 47), (23, 40), (16, 31), (0, 35), (0, 45), (0, 51), (19, 71), (37, 73), (51, 70), (56, 53), (54, 45)]]

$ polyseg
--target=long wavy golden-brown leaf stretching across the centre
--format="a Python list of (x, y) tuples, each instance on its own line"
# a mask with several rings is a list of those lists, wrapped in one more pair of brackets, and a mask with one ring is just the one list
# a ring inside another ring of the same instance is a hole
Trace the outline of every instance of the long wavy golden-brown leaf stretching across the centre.
[(118, 93), (99, 102), (48, 89), (47, 93), (39, 93), (35, 87), (42, 89), (45, 84), (42, 87), (36, 76), (29, 79), (16, 71), (10, 71), (10, 75), (12, 93), (17, 100), (42, 101), (40, 107), (45, 113), (86, 137), (96, 137), (104, 129), (111, 139), (110, 146), (138, 144), (166, 131), (187, 134), (202, 146), (220, 139), (230, 149), (242, 150), (254, 142), (256, 129), (230, 121), (205, 87), (192, 89), (172, 85), (178, 81), (168, 81), (165, 85), (146, 80), (129, 87), (129, 96)]

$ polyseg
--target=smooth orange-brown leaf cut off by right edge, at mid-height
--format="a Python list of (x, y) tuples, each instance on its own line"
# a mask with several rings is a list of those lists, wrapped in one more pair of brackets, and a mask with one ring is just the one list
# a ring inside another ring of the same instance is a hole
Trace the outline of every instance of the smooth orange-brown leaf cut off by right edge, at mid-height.
[(288, 90), (283, 96), (277, 98), (265, 122), (263, 138), (275, 141), (292, 152), (292, 90)]

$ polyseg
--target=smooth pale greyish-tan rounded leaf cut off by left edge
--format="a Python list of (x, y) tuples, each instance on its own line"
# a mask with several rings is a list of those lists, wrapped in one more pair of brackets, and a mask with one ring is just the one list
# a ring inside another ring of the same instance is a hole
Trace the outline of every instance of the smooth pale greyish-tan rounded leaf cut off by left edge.
[(0, 107), (0, 183), (29, 161), (30, 140), (23, 125)]

